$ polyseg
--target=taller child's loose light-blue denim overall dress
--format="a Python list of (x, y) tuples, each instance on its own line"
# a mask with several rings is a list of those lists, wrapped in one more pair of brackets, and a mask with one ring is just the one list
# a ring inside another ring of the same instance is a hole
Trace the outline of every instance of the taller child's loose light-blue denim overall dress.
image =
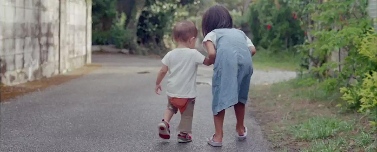
[(215, 29), (216, 60), (213, 64), (213, 115), (238, 102), (246, 104), (253, 74), (246, 35), (238, 29)]

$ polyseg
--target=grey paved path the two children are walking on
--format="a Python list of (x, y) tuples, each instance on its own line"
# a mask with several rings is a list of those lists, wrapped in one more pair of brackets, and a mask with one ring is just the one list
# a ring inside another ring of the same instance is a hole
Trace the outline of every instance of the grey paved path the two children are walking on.
[[(208, 85), (198, 86), (201, 95), (194, 112), (194, 141), (176, 142), (174, 131), (179, 115), (171, 122), (173, 138), (161, 140), (157, 124), (167, 99), (166, 95), (153, 92), (161, 66), (159, 60), (93, 55), (93, 62), (101, 63), (103, 68), (59, 86), (0, 103), (0, 152), (269, 151), (249, 113), (245, 118), (249, 138), (236, 141), (233, 109), (226, 111), (224, 146), (215, 148), (205, 143), (214, 131)], [(150, 73), (137, 74), (142, 71)], [(198, 74), (198, 81), (210, 81), (211, 67), (200, 66)], [(291, 76), (289, 72), (277, 75), (256, 71), (253, 82), (265, 83), (272, 81), (268, 77), (282, 80)]]

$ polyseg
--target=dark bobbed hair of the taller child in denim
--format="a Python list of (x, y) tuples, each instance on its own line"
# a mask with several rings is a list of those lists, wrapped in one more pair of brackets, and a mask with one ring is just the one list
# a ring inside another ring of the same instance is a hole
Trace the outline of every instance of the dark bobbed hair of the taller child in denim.
[(202, 19), (202, 33), (206, 36), (215, 29), (231, 29), (233, 20), (227, 8), (222, 5), (211, 6)]

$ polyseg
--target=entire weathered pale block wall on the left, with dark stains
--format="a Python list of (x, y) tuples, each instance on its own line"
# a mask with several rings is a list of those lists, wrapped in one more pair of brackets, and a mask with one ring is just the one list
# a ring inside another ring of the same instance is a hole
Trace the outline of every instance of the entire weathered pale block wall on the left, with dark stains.
[(86, 0), (0, 0), (1, 83), (51, 77), (90, 62), (87, 6)]

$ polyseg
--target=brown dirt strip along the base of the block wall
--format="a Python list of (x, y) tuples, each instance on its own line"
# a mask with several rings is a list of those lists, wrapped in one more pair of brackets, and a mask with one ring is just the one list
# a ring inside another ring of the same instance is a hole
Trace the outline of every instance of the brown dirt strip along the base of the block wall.
[(90, 64), (82, 68), (75, 69), (66, 74), (56, 75), (51, 78), (41, 78), (40, 80), (35, 80), (28, 83), (19, 84), (16, 86), (0, 86), (0, 102), (6, 101), (8, 99), (14, 98), (16, 96), (25, 95), (29, 92), (34, 92), (37, 90), (42, 90), (46, 87), (59, 85), (66, 81), (81, 77), (85, 74), (92, 72), (95, 69), (100, 68), (101, 65)]

